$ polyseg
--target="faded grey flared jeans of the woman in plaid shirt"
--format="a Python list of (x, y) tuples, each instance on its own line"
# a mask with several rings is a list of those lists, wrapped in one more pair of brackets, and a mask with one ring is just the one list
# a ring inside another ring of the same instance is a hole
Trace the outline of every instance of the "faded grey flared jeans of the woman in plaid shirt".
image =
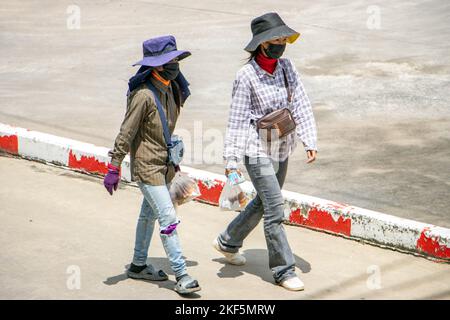
[(288, 159), (275, 162), (269, 158), (245, 157), (245, 167), (256, 189), (256, 197), (219, 235), (219, 245), (235, 253), (244, 239), (264, 218), (264, 235), (269, 252), (269, 267), (275, 282), (295, 277), (295, 259), (283, 227), (284, 200), (281, 188), (286, 177)]

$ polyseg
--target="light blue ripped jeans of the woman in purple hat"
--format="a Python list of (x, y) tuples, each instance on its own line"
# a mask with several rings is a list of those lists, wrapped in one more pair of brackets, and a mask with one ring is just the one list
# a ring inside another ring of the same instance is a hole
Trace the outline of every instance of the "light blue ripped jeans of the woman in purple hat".
[(136, 227), (133, 264), (143, 266), (147, 262), (148, 248), (152, 239), (155, 221), (159, 223), (161, 238), (170, 267), (176, 277), (187, 273), (186, 262), (181, 253), (180, 240), (174, 228), (178, 219), (169, 194), (169, 185), (152, 186), (138, 182), (144, 199)]

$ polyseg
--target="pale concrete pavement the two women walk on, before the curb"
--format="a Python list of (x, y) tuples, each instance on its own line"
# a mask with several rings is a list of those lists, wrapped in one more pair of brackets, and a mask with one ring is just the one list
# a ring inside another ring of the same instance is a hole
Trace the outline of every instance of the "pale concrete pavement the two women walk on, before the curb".
[[(182, 299), (159, 237), (151, 263), (165, 282), (124, 274), (133, 253), (140, 191), (58, 167), (0, 157), (0, 299)], [(211, 247), (235, 213), (191, 202), (179, 208), (188, 271), (202, 291), (193, 299), (450, 299), (450, 265), (286, 226), (304, 292), (273, 284), (258, 225), (244, 243), (245, 266)]]

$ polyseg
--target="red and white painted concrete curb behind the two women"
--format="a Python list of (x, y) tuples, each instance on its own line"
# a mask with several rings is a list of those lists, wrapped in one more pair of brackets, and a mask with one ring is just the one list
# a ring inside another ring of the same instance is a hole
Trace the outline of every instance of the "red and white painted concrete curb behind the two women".
[[(108, 148), (0, 123), (0, 150), (72, 170), (104, 175)], [(218, 205), (225, 176), (181, 166), (195, 178), (202, 195), (196, 200)], [(122, 180), (131, 182), (130, 159), (122, 164)], [(249, 198), (251, 182), (242, 189)], [(314, 230), (406, 251), (435, 261), (450, 262), (450, 229), (403, 219), (325, 199), (283, 190), (285, 222)]]

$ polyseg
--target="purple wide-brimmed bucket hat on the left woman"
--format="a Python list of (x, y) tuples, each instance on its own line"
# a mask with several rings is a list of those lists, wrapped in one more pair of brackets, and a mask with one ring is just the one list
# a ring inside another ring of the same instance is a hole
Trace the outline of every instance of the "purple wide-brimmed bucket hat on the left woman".
[(144, 41), (142, 44), (144, 59), (133, 64), (159, 67), (178, 57), (182, 60), (191, 55), (189, 51), (177, 50), (174, 36), (162, 36)]

